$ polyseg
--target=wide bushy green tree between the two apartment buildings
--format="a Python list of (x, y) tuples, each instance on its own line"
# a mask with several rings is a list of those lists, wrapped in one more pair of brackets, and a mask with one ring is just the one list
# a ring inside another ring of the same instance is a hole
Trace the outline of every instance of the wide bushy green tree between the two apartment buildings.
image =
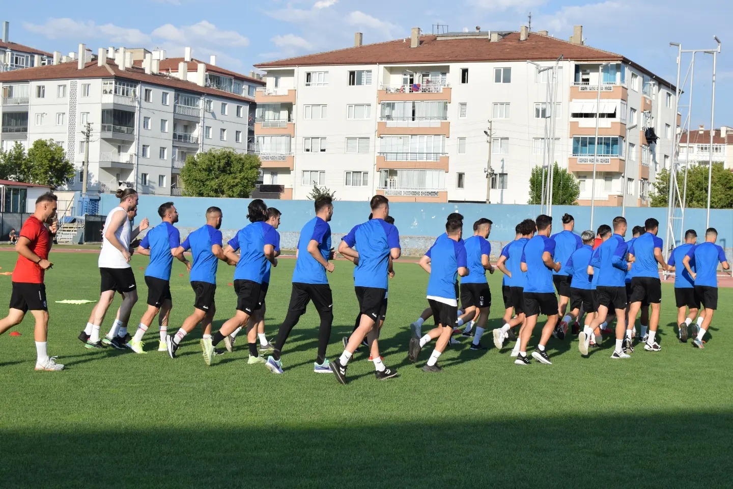
[(229, 148), (186, 158), (183, 194), (194, 197), (248, 197), (259, 176), (259, 158)]

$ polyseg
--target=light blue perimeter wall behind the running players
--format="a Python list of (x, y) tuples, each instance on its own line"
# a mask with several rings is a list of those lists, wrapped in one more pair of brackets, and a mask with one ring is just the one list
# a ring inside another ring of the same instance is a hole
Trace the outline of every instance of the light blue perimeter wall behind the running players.
[[(116, 207), (119, 200), (112, 194), (100, 196), (99, 213), (106, 215)], [(247, 205), (250, 199), (210, 199), (204, 197), (171, 197), (141, 195), (138, 205), (138, 218), (147, 217), (151, 226), (160, 222), (158, 206), (163, 202), (174, 202), (180, 220), (177, 227), (181, 230), (182, 239), (188, 232), (201, 227), (206, 222), (206, 209), (212, 205), (220, 207), (224, 213), (221, 230), (224, 238), (232, 235), (246, 224), (248, 220)], [(314, 216), (313, 201), (310, 200), (266, 200), (270, 207), (277, 207), (282, 213), (279, 232), (281, 247), (295, 249), (298, 234), (303, 224)], [(590, 207), (586, 206), (553, 206), (555, 223), (553, 232), (561, 228), (560, 218), (564, 213), (575, 217), (575, 232), (578, 234), (590, 226)], [(449, 213), (461, 213), (464, 216), (463, 237), (473, 235), (472, 224), (479, 218), (486, 217), (493, 221), (490, 235), (492, 242), (492, 256), (496, 257), (501, 246), (515, 238), (514, 228), (518, 222), (526, 218), (534, 218), (539, 213), (539, 205), (511, 205), (511, 204), (462, 204), (462, 203), (423, 203), (423, 202), (393, 202), (389, 206), (389, 213), (394, 217), (394, 224), (399, 229), (403, 253), (416, 256), (424, 253), (435, 237), (445, 232), (446, 216)], [(621, 213), (620, 207), (596, 207), (594, 227), (600, 224), (611, 224), (614, 217)], [(334, 248), (338, 240), (350, 229), (367, 220), (369, 216), (368, 202), (341, 201), (334, 202), (334, 218), (331, 220), (331, 231), (334, 233)], [(627, 207), (626, 218), (629, 227), (643, 226), (649, 218), (657, 218), (660, 222), (660, 238), (666, 236), (666, 207)], [(685, 212), (685, 229), (695, 229), (699, 236), (705, 231), (706, 210), (688, 209)], [(726, 249), (726, 254), (733, 255), (733, 210), (711, 210), (710, 224), (718, 229), (718, 244)], [(679, 240), (679, 229), (675, 238)], [(627, 233), (630, 238), (630, 231)], [(699, 238), (700, 240), (700, 238)]]

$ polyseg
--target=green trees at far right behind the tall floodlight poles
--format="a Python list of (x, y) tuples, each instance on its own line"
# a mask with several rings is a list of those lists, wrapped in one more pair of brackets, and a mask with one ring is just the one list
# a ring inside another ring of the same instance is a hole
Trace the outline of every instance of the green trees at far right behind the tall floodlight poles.
[[(707, 207), (707, 165), (695, 165), (688, 168), (688, 185), (686, 207)], [(669, 195), (668, 169), (657, 174), (650, 196), (652, 207), (666, 207)], [(684, 169), (677, 172), (679, 193), (684, 194)], [(712, 192), (710, 193), (710, 207), (712, 209), (730, 209), (733, 207), (733, 173), (723, 167), (723, 163), (712, 165)]]

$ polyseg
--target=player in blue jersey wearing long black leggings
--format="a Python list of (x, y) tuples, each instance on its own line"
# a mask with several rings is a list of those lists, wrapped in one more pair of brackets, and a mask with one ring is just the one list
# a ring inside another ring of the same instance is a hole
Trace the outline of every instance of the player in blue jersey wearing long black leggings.
[(331, 324), (334, 322), (334, 300), (331, 287), (328, 287), (326, 272), (334, 272), (334, 249), (331, 248), (331, 227), (328, 221), (334, 215), (334, 204), (331, 196), (320, 196), (315, 199), (316, 216), (306, 222), (301, 229), (296, 251), (295, 271), (292, 272), (292, 290), (290, 305), (287, 308), (285, 320), (280, 325), (275, 349), (268, 357), (267, 364), (270, 372), (281, 374), (282, 361), (280, 360), (282, 347), (287, 341), (292, 328), (306, 312), (310, 301), (316, 307), (320, 316), (318, 328), (318, 353), (313, 365), (316, 373), (331, 373), (331, 364), (325, 358), (328, 339), (331, 338)]

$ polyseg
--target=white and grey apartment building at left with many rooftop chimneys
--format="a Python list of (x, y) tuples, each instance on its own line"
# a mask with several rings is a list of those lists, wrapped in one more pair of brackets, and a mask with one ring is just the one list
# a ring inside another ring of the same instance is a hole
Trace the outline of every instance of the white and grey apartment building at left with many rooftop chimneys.
[(180, 195), (188, 155), (218, 147), (247, 151), (254, 100), (207, 87), (204, 63), (189, 77), (188, 62), (161, 73), (161, 51), (145, 52), (139, 66), (125, 48), (100, 49), (92, 62), (85, 53), (79, 45), (73, 62), (0, 73), (0, 146), (54, 139), (77, 169), (66, 190), (82, 188), (87, 122), (89, 191), (116, 191), (122, 183), (141, 194)]

